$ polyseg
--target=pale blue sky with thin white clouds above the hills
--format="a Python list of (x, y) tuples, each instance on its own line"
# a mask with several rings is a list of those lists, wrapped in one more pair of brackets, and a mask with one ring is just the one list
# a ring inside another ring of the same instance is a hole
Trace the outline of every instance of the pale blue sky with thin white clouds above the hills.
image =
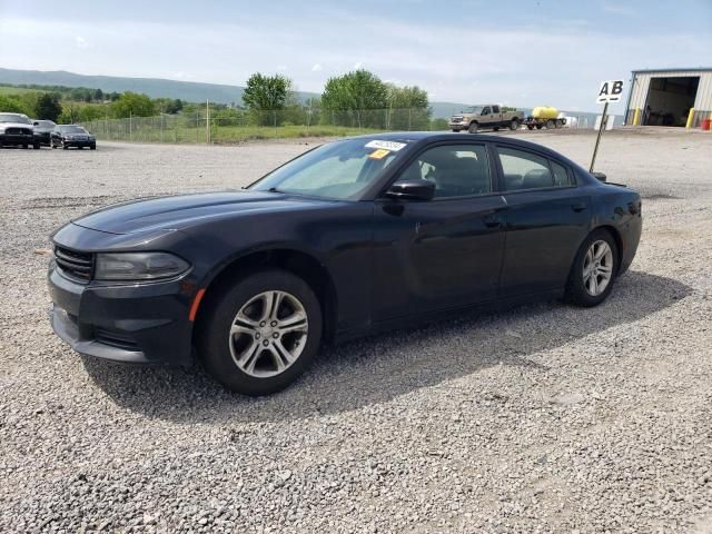
[(0, 67), (320, 92), (356, 68), (433, 101), (595, 110), (603, 79), (712, 67), (712, 0), (0, 0)]

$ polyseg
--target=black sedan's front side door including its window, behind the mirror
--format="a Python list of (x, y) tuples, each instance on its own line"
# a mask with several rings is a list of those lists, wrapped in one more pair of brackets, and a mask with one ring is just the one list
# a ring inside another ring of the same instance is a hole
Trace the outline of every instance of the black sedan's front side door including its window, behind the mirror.
[(374, 320), (496, 297), (506, 206), (493, 176), (483, 144), (439, 145), (398, 178), (434, 181), (433, 200), (376, 201)]

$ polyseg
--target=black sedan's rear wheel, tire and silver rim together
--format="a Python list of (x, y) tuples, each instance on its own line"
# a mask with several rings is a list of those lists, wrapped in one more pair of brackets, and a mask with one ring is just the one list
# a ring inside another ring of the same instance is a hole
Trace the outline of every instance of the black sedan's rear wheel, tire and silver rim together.
[(597, 306), (613, 288), (619, 268), (619, 249), (610, 231), (592, 231), (576, 253), (568, 274), (566, 301), (583, 307)]

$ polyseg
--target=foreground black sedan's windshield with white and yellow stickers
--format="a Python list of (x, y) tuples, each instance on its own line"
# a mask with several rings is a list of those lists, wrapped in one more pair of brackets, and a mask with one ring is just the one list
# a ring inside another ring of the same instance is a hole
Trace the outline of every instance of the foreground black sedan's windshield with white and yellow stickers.
[(330, 142), (289, 161), (248, 189), (357, 199), (405, 147), (405, 142), (364, 138)]

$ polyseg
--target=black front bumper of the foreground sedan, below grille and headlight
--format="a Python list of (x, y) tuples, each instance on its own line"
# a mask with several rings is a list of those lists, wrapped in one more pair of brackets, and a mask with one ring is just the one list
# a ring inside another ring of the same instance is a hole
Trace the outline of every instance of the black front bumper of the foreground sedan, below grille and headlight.
[(83, 285), (52, 265), (48, 283), (52, 328), (78, 353), (132, 364), (190, 363), (190, 298), (180, 280)]

